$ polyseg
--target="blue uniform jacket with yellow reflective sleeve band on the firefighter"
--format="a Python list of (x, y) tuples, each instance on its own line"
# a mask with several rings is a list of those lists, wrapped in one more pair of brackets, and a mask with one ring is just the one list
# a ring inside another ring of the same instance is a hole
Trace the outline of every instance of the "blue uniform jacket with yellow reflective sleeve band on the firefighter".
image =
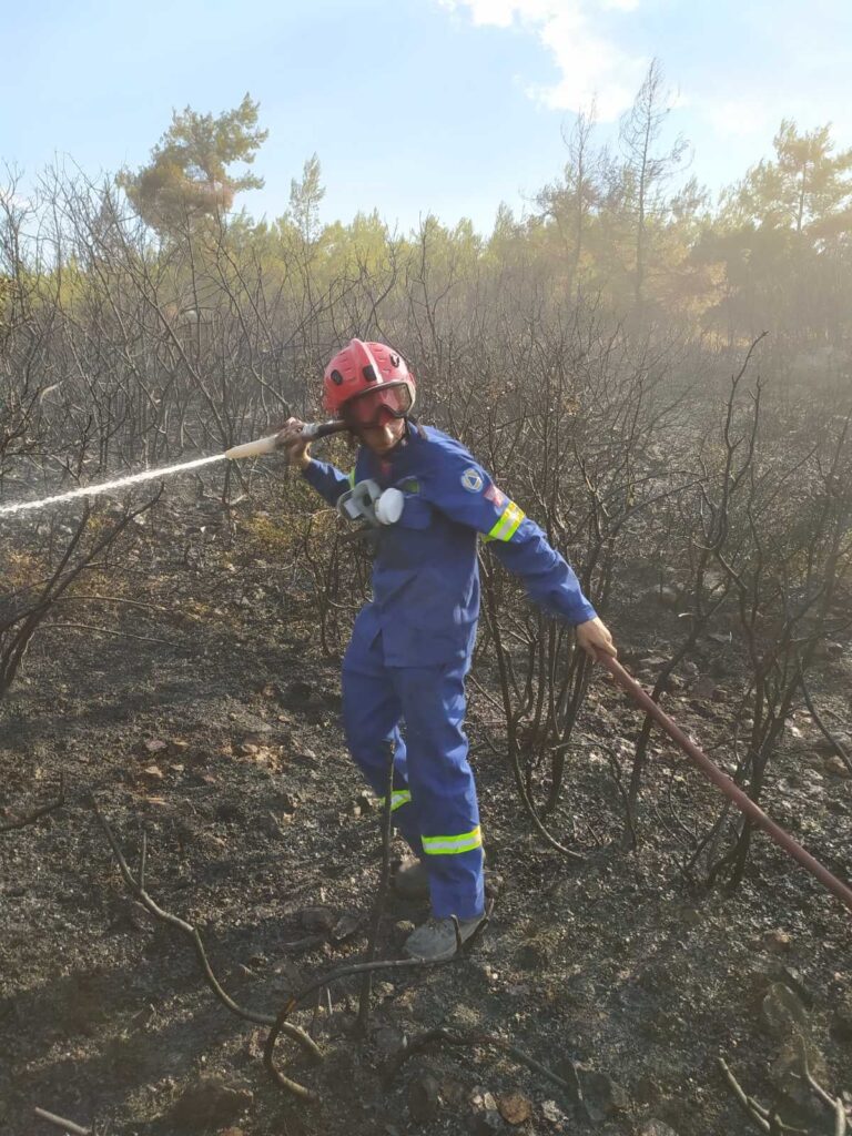
[[(329, 504), (353, 484), (317, 460), (303, 476)], [(356, 626), (356, 634), (369, 640), (382, 634), (387, 666), (469, 660), (479, 617), (479, 536), (549, 615), (570, 624), (594, 618), (576, 575), (542, 529), (446, 434), (409, 423), (385, 458), (361, 446), (354, 482), (366, 478), (404, 495), (399, 521), (379, 531), (373, 601)]]

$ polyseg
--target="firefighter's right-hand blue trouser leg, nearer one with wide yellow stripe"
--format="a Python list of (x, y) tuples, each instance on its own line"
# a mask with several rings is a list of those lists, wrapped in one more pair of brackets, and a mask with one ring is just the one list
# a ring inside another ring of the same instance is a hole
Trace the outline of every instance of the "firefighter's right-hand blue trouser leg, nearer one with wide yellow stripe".
[(406, 724), (408, 783), (417, 804), (432, 910), (473, 919), (485, 907), (476, 785), (467, 755), (467, 663), (392, 667)]

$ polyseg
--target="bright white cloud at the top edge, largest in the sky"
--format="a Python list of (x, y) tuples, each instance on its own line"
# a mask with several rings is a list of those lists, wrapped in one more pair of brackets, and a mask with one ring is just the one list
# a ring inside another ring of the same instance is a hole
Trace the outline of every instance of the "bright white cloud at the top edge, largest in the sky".
[(531, 98), (553, 110), (579, 110), (594, 99), (598, 117), (611, 122), (633, 102), (649, 60), (623, 50), (594, 27), (604, 9), (627, 12), (638, 0), (438, 0), (467, 9), (476, 26), (518, 26), (535, 34), (553, 57), (560, 78), (524, 83)]

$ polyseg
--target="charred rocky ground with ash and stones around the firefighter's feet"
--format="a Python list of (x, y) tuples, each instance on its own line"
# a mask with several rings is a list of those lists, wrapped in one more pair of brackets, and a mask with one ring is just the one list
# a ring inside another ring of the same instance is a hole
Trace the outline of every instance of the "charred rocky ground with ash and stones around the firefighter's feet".
[[(35, 1108), (101, 1136), (757, 1131), (720, 1058), (786, 1124), (835, 1131), (799, 1071), (804, 1044), (830, 1094), (852, 1091), (850, 912), (762, 836), (735, 895), (688, 878), (717, 796), (662, 742), (635, 851), (621, 847), (609, 758), (585, 743), (550, 818), (585, 859), (548, 850), (506, 762), (478, 744), (476, 699), (486, 933), (453, 963), (378, 975), (365, 1037), (354, 979), (311, 999), (293, 1020), (316, 1036), (321, 1062), (286, 1039), (276, 1056), (320, 1103), (274, 1085), (267, 1029), (217, 1001), (185, 936), (128, 894), (89, 796), (134, 868), (145, 829), (151, 896), (198, 928), (237, 1003), (273, 1016), (365, 950), (376, 807), (348, 760), (339, 663), (301, 616), (302, 585), (240, 538), (227, 554), (173, 560), (151, 536), (147, 554), (124, 578), (124, 602), (75, 616), (122, 634), (45, 632), (0, 703), (0, 822), (48, 803), (60, 776), (65, 785), (60, 808), (0, 833), (2, 1133), (60, 1130)], [(662, 607), (644, 621), (613, 619), (634, 670), (665, 658), (675, 619)], [(726, 651), (703, 643), (668, 702), (708, 745), (735, 701)], [(843, 643), (815, 680), (841, 730), (851, 680)], [(599, 677), (584, 730), (608, 742), (625, 776), (638, 720)], [(849, 879), (852, 780), (805, 712), (791, 727), (766, 807)], [(382, 955), (398, 958), (426, 913), (392, 901)], [(459, 1044), (418, 1049), (435, 1028)], [(415, 1052), (399, 1064), (406, 1045)]]

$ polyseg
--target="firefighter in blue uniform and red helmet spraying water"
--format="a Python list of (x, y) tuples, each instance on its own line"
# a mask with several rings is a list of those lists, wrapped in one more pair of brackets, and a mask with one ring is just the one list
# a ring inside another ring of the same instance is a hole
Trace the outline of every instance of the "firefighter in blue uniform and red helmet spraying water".
[(396, 351), (352, 340), (326, 367), (324, 392), (326, 409), (360, 442), (352, 475), (310, 457), (299, 419), (287, 420), (279, 444), (329, 504), (365, 482), (383, 492), (379, 516), (382, 501), (393, 498), (385, 510), (393, 523), (376, 529), (373, 600), (356, 619), (343, 660), (343, 721), (352, 757), (379, 796), (393, 749), (393, 819), (415, 853), (394, 883), (409, 896), (428, 895), (432, 905), (406, 953), (443, 961), (476, 932), (485, 909), (463, 732), (479, 615), (478, 541), (490, 543), (542, 609), (576, 627), (592, 658), (615, 655), (616, 648), (542, 529), (459, 442), (412, 419), (415, 378)]

